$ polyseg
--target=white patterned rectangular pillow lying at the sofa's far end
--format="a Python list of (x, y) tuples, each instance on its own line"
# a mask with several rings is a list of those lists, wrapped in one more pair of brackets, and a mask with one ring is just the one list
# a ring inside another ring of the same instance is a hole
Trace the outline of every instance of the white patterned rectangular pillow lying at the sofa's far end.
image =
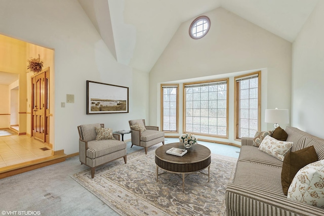
[(284, 161), (285, 155), (292, 146), (292, 142), (279, 141), (268, 135), (262, 140), (259, 150)]

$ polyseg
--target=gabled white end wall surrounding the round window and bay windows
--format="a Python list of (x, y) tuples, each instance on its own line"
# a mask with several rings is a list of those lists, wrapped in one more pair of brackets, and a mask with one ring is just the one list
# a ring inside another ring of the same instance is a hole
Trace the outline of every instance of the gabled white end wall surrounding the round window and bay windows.
[[(221, 78), (237, 74), (229, 74), (233, 72), (262, 69), (261, 122), (263, 126), (261, 129), (271, 129), (272, 124), (264, 123), (264, 110), (275, 107), (291, 109), (291, 42), (223, 8), (203, 15), (211, 20), (208, 34), (194, 40), (189, 36), (188, 29), (195, 17), (182, 23), (150, 71), (150, 123), (160, 125), (159, 84), (161, 82), (188, 78), (201, 79), (199, 77)], [(233, 83), (230, 83), (230, 88), (229, 94), (233, 96)], [(233, 101), (229, 103), (231, 105)], [(229, 140), (222, 141), (235, 143), (233, 108), (231, 107), (229, 111), (231, 137)]]

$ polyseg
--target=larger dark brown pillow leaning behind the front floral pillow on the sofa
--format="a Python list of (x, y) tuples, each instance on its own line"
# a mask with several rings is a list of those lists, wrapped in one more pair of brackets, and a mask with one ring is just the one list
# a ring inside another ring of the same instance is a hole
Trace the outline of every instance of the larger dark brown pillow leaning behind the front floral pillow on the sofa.
[(298, 170), (317, 160), (318, 158), (314, 146), (295, 152), (290, 151), (286, 154), (281, 170), (281, 185), (285, 195), (287, 195), (288, 188)]

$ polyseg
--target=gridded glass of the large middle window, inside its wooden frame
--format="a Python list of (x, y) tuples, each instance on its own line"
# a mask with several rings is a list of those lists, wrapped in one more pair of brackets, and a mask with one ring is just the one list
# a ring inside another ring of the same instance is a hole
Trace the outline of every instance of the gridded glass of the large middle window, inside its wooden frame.
[(228, 137), (228, 79), (184, 83), (184, 131)]

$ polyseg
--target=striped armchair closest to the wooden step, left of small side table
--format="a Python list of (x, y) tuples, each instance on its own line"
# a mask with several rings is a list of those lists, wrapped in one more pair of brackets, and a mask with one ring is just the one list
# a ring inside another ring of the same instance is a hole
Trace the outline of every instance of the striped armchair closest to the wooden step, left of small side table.
[(112, 134), (113, 139), (96, 140), (96, 128), (104, 128), (104, 124), (82, 124), (77, 126), (79, 133), (79, 159), (81, 164), (91, 168), (91, 178), (95, 176), (96, 167), (112, 160), (124, 157), (127, 163), (126, 143), (120, 136)]

